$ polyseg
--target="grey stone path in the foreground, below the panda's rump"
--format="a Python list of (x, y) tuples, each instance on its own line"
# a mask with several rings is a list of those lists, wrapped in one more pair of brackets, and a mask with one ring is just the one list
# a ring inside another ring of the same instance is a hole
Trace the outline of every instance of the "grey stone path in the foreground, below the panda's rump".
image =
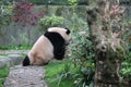
[(10, 71), (3, 87), (47, 87), (43, 66), (15, 66)]

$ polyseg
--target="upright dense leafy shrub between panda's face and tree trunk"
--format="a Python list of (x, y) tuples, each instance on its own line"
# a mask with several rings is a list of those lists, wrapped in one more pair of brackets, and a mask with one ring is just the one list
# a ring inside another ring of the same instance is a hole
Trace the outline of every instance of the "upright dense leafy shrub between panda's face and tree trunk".
[(81, 77), (75, 79), (75, 86), (91, 86), (93, 85), (93, 77), (95, 72), (94, 64), (94, 49), (92, 42), (88, 40), (88, 29), (75, 34), (72, 49), (72, 61)]

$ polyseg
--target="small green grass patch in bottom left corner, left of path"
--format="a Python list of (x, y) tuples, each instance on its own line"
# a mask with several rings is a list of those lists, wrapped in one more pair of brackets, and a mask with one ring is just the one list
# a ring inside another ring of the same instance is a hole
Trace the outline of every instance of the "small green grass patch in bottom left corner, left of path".
[(1, 69), (0, 70), (0, 87), (2, 87), (2, 85), (4, 83), (4, 79), (8, 76), (8, 74), (9, 74), (9, 69)]

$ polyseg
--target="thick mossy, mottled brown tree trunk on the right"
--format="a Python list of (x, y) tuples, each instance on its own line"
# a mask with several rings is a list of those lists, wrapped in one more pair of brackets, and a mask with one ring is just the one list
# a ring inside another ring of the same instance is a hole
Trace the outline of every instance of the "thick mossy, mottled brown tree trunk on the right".
[[(121, 87), (119, 70), (124, 58), (124, 44), (119, 38), (119, 26), (122, 24), (117, 17), (122, 15), (120, 11), (115, 13), (114, 9), (111, 10), (112, 5), (116, 5), (111, 0), (90, 0), (88, 3), (87, 23), (96, 53), (94, 87)], [(117, 22), (116, 27), (114, 20)]]

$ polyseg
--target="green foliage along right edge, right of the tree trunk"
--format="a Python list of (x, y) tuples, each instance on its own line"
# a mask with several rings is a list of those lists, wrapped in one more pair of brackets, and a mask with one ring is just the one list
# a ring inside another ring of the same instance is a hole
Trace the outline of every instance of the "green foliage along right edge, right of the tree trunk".
[(127, 42), (127, 53), (126, 60), (122, 61), (122, 69), (120, 74), (123, 78), (123, 82), (131, 82), (131, 18), (124, 20), (126, 28), (124, 34), (122, 35), (122, 40)]

